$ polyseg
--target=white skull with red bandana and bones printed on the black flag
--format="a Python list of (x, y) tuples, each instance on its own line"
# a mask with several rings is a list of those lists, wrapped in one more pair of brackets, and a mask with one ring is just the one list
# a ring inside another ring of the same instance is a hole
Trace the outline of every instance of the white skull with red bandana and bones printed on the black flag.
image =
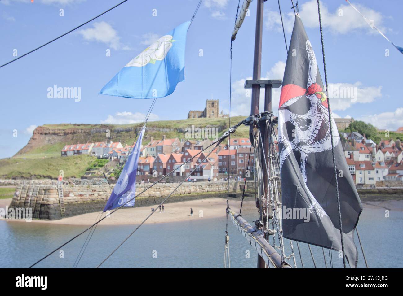
[[(279, 143), (283, 143), (280, 152), (280, 166), (292, 151), (299, 151), (299, 168), (307, 188), (306, 161), (309, 153), (322, 152), (332, 149), (330, 140), (330, 124), (328, 118), (328, 103), (326, 93), (323, 91), (322, 81), (317, 83), (317, 70), (315, 53), (309, 40), (306, 41), (306, 51), (309, 68), (306, 89), (295, 84), (284, 85), (281, 89), (278, 116), (279, 122), (284, 122), (288, 127), (285, 134), (283, 127), (279, 126)], [(293, 107), (295, 105), (295, 107)], [(333, 118), (332, 118), (333, 120)], [(339, 143), (339, 133), (332, 122), (334, 146)], [(323, 217), (326, 212), (317, 203), (314, 196), (309, 209), (318, 217)]]

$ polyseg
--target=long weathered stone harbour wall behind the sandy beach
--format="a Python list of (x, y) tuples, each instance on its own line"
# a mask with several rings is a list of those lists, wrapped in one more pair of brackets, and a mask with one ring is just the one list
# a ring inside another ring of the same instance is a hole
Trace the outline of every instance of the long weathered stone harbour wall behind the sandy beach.
[[(150, 184), (137, 184), (137, 194)], [(179, 183), (155, 184), (136, 198), (136, 206), (156, 205), (167, 197)], [(101, 211), (109, 198), (114, 184), (73, 184), (64, 183), (63, 201), (65, 216), (71, 217), (83, 213)], [(254, 182), (248, 181), (247, 188), (253, 189)], [(231, 197), (240, 197), (243, 182), (230, 182)], [(183, 183), (166, 201), (166, 203), (201, 198), (226, 197), (227, 182), (195, 182)], [(17, 185), (10, 204), (12, 208), (32, 208), (33, 218), (61, 219), (60, 201), (57, 184), (40, 182)]]

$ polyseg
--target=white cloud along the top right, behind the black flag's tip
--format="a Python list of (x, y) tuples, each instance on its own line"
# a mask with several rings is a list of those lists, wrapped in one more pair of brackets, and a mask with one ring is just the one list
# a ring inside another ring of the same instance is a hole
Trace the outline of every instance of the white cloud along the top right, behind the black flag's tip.
[[(375, 22), (375, 26), (381, 31), (386, 31), (386, 28), (382, 26), (382, 19), (384, 16), (380, 12), (367, 8), (361, 4), (353, 4), (365, 17), (372, 19)], [(376, 33), (375, 29), (366, 23), (363, 17), (358, 14), (349, 4), (341, 4), (334, 12), (329, 12), (326, 5), (323, 3), (320, 7), (320, 13), (322, 15), (322, 27), (330, 29), (333, 33), (345, 34), (353, 30), (366, 30), (367, 32)], [(342, 14), (342, 15), (340, 15)], [(267, 11), (266, 15), (266, 28), (276, 29), (282, 31), (280, 14), (277, 11)], [(284, 29), (290, 33), (294, 25), (294, 13), (283, 13)], [(303, 24), (307, 28), (319, 27), (318, 17), (318, 4), (316, 0), (311, 0), (300, 4), (299, 15)]]

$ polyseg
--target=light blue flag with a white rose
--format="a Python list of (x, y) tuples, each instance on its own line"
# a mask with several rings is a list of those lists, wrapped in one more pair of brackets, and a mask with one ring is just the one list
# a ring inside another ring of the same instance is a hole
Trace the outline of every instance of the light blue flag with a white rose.
[(150, 99), (166, 97), (185, 80), (189, 21), (162, 36), (123, 67), (100, 91), (103, 95)]

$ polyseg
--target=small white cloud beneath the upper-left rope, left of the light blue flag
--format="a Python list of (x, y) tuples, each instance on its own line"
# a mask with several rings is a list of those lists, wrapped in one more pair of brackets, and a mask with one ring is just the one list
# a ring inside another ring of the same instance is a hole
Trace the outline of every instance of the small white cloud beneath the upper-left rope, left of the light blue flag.
[(93, 23), (92, 28), (83, 29), (78, 31), (79, 34), (87, 41), (98, 41), (107, 44), (114, 50), (128, 49), (120, 43), (120, 37), (118, 32), (112, 28), (112, 26), (105, 21), (99, 23)]

